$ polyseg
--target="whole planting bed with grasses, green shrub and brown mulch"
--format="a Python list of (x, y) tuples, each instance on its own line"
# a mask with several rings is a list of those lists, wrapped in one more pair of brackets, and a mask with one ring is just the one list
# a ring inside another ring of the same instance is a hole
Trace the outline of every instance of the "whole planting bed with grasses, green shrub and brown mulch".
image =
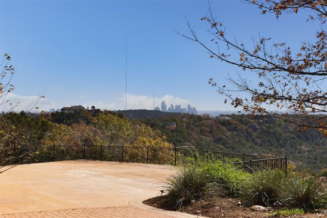
[(327, 178), (189, 159), (144, 204), (206, 217), (327, 217)]

